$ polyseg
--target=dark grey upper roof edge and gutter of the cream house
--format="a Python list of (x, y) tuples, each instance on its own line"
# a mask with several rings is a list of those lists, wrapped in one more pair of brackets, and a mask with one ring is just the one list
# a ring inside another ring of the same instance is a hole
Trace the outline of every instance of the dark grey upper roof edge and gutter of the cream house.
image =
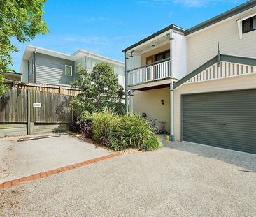
[(155, 38), (156, 36), (159, 36), (160, 34), (164, 33), (165, 31), (169, 31), (171, 29), (182, 31), (183, 33), (185, 33), (185, 36), (187, 36), (191, 33), (194, 33), (196, 31), (199, 31), (201, 29), (209, 27), (209, 26), (211, 26), (215, 23), (218, 23), (222, 20), (225, 20), (229, 17), (232, 17), (234, 15), (242, 13), (243, 11), (246, 11), (255, 6), (256, 6), (256, 0), (246, 1), (246, 3), (243, 3), (239, 6), (237, 6), (236, 8), (232, 8), (231, 10), (227, 10), (225, 13), (221, 13), (220, 15), (217, 15), (209, 20), (206, 20), (205, 22), (201, 22), (200, 24), (197, 24), (196, 26), (191, 27), (190, 29), (183, 29), (182, 27), (178, 27), (176, 24), (171, 24), (168, 27), (165, 27), (164, 29), (161, 29), (161, 30), (157, 31), (156, 33), (153, 33), (152, 35), (148, 36), (147, 38), (144, 38), (143, 40), (138, 41), (138, 43), (135, 43), (134, 45), (131, 45), (131, 46), (125, 48), (124, 50), (122, 50), (122, 52), (127, 52), (128, 50), (131, 50), (132, 48), (134, 48), (138, 45), (141, 45), (142, 43), (145, 43), (147, 40), (150, 40), (151, 38)]

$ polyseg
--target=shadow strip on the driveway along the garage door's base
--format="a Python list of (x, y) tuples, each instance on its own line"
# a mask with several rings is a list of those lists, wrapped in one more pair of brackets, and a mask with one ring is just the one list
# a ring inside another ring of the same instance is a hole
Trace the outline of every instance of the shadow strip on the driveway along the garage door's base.
[(215, 158), (226, 163), (236, 165), (242, 172), (256, 172), (256, 154), (249, 154), (241, 151), (229, 149), (220, 149), (203, 144), (194, 144), (192, 142), (169, 142), (162, 140), (164, 147), (186, 151), (206, 158)]

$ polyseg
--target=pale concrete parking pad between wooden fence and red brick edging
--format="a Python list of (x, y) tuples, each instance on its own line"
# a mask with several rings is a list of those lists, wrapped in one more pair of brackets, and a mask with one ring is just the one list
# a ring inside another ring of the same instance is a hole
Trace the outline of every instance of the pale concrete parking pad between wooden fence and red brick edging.
[(24, 137), (0, 139), (0, 183), (109, 154), (106, 149), (67, 134), (17, 142)]

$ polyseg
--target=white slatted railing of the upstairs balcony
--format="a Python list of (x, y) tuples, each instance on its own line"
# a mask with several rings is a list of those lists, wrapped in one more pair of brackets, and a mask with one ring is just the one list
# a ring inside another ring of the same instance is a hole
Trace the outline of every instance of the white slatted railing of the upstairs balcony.
[(127, 72), (127, 85), (162, 80), (171, 76), (170, 60)]

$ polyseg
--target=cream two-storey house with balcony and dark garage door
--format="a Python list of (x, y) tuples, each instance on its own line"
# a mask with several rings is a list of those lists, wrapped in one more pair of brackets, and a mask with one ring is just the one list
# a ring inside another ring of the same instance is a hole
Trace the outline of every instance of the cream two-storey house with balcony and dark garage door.
[(123, 52), (129, 112), (166, 122), (171, 140), (256, 154), (256, 1)]

